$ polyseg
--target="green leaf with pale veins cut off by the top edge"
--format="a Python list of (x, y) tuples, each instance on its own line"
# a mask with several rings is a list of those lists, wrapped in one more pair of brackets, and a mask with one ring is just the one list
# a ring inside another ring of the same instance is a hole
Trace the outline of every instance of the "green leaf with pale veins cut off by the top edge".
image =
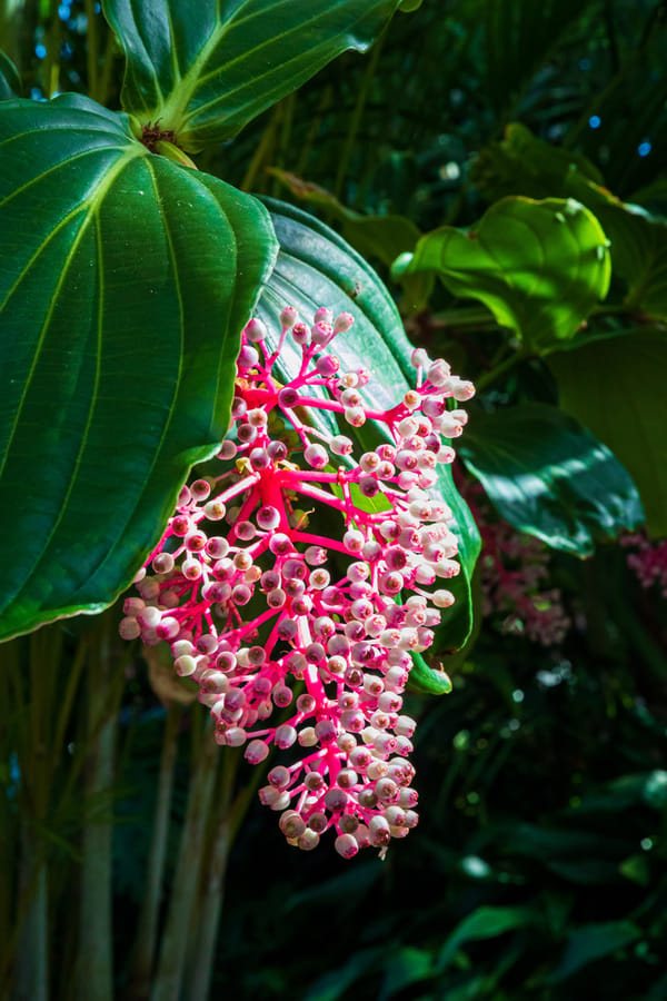
[(122, 106), (196, 150), (229, 139), (346, 49), (365, 51), (398, 0), (104, 0), (127, 57)]

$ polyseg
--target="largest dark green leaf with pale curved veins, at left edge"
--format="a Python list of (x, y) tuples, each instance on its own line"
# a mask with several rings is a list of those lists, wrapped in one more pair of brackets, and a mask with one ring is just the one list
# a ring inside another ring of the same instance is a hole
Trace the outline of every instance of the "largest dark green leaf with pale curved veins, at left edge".
[(263, 207), (81, 97), (0, 105), (0, 637), (127, 586), (225, 433)]

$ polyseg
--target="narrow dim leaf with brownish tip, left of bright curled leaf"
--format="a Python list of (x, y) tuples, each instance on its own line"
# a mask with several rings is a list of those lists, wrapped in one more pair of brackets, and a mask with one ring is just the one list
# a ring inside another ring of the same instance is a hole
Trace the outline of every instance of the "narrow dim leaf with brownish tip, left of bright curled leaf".
[[(407, 216), (366, 216), (342, 205), (330, 191), (319, 185), (301, 180), (287, 170), (271, 168), (269, 171), (286, 185), (292, 195), (309, 205), (318, 206), (332, 219), (341, 222), (342, 236), (362, 257), (379, 260), (390, 267), (396, 258), (411, 250), (421, 232)], [(434, 276), (430, 272), (406, 275), (402, 280), (405, 295), (401, 300), (404, 313), (424, 309), (432, 293)]]

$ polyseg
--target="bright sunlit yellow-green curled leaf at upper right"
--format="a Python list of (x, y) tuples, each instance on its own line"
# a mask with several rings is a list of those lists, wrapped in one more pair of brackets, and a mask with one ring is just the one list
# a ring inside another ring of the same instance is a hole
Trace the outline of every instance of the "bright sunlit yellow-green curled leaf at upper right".
[(531, 351), (574, 337), (610, 278), (605, 234), (574, 199), (504, 198), (467, 232), (442, 226), (399, 257), (395, 275), (436, 271), (456, 296), (479, 299)]

